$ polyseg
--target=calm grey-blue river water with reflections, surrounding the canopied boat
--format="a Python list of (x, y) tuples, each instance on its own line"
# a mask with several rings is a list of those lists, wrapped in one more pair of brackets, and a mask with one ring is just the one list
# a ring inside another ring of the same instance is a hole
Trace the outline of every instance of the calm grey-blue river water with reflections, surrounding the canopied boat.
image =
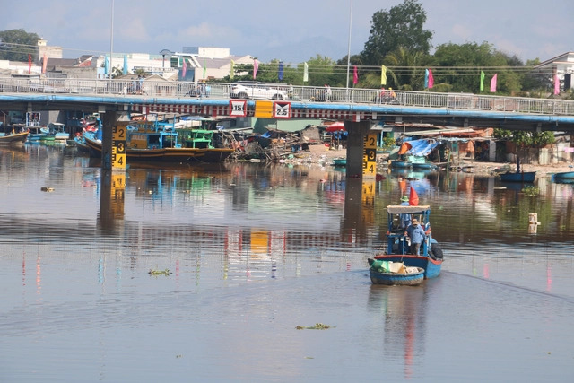
[[(574, 187), (385, 176), (0, 148), (0, 381), (573, 381)], [(411, 186), (442, 272), (373, 286)]]

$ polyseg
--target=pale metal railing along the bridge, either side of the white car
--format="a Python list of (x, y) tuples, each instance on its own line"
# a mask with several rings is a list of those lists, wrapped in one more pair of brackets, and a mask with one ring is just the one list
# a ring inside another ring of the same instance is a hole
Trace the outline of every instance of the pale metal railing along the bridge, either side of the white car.
[[(13, 79), (0, 78), (2, 93), (69, 93), (74, 95), (112, 95), (122, 97), (177, 98), (210, 97), (229, 100), (232, 83), (192, 83), (139, 80), (85, 79)], [(524, 97), (487, 96), (472, 93), (437, 93), (430, 91), (381, 91), (358, 88), (274, 85), (285, 91), (289, 100), (334, 102), (344, 104), (396, 105), (404, 107), (468, 109), (574, 116), (574, 101), (530, 99)]]

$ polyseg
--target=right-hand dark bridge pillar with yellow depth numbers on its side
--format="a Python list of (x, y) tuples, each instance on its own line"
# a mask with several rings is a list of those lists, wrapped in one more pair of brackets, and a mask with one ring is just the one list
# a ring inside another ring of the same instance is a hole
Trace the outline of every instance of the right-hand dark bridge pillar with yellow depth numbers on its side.
[[(365, 161), (366, 142), (365, 136), (370, 133), (370, 121), (352, 122), (345, 121), (344, 128), (349, 135), (347, 136), (347, 176), (370, 177), (370, 174), (364, 173), (363, 162)], [(376, 141), (374, 153), (377, 152)], [(376, 161), (372, 158), (372, 161)], [(372, 177), (375, 177), (373, 172)]]

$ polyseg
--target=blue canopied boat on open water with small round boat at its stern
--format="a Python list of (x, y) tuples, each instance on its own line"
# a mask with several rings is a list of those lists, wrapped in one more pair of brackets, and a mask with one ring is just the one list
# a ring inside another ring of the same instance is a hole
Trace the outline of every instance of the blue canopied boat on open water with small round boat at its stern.
[[(401, 226), (402, 214), (410, 214), (411, 218), (416, 218), (422, 228), (427, 233), (425, 240), (422, 242), (420, 255), (408, 254), (409, 246), (406, 236), (404, 236), (404, 227)], [(439, 247), (439, 243), (432, 238), (431, 233), (431, 207), (429, 205), (420, 206), (403, 206), (403, 205), (388, 205), (387, 206), (387, 248), (385, 254), (376, 255), (373, 257), (375, 261), (388, 261), (388, 262), (401, 262), (406, 267), (418, 267), (423, 270), (422, 275), (424, 279), (436, 278), (440, 274), (442, 267), (443, 253)], [(370, 276), (372, 283), (382, 283), (383, 280), (391, 280), (387, 275), (378, 275), (377, 270), (370, 268)], [(399, 282), (401, 279), (404, 283)], [(411, 284), (409, 280), (414, 279), (414, 276), (409, 274), (396, 274), (393, 276), (393, 284)]]

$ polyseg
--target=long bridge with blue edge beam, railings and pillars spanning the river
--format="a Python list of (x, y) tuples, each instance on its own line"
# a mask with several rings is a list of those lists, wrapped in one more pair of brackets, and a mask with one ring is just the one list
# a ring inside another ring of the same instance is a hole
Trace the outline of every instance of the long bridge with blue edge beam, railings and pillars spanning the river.
[(430, 91), (394, 91), (391, 95), (388, 91), (381, 94), (380, 90), (347, 88), (332, 88), (326, 96), (323, 87), (245, 85), (252, 90), (248, 96), (257, 89), (260, 94), (271, 94), (274, 100), (239, 99), (245, 94), (236, 91), (231, 83), (6, 78), (0, 79), (0, 110), (104, 113), (104, 146), (111, 145), (117, 114), (126, 112), (344, 120), (349, 132), (349, 174), (361, 173), (356, 171), (359, 169), (364, 174), (363, 160), (368, 149), (364, 143), (370, 134), (370, 121), (574, 133), (571, 100)]

